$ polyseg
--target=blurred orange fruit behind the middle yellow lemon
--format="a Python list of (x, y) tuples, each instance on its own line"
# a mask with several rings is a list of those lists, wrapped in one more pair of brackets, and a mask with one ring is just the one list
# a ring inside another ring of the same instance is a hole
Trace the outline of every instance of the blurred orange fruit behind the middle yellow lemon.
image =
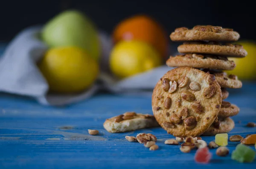
[(164, 29), (146, 15), (136, 15), (123, 20), (113, 32), (114, 43), (120, 40), (140, 40), (154, 46), (162, 57), (168, 55), (168, 36)]

